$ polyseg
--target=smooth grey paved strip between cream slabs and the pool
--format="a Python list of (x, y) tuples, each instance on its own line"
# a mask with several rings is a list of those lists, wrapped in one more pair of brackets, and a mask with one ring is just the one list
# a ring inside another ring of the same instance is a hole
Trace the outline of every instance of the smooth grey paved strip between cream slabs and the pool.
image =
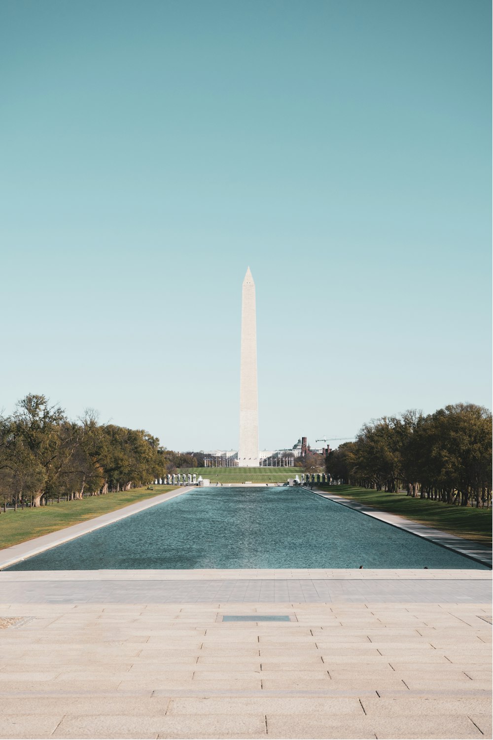
[[(56, 579), (58, 572), (51, 571), (52, 579), (36, 579), (40, 571), (29, 571), (30, 579), (7, 580), (7, 573), (0, 573), (0, 604), (193, 604), (193, 603), (484, 603), (492, 600), (492, 579), (487, 571), (483, 578), (475, 579), (282, 579), (282, 578), (223, 578), (223, 579), (136, 579), (135, 571), (128, 579), (98, 579), (97, 571), (87, 573), (86, 580)], [(73, 571), (72, 571), (73, 572)], [(137, 571), (138, 573), (139, 571)], [(142, 571), (146, 573), (146, 571)], [(179, 571), (183, 573), (183, 571)], [(227, 572), (227, 571), (226, 571)], [(441, 571), (438, 571), (440, 573)], [(464, 572), (464, 571), (463, 571)], [(12, 575), (16, 573), (13, 571)], [(92, 574), (95, 573), (95, 577)], [(17, 573), (16, 573), (17, 574)], [(123, 575), (123, 574), (122, 574)]]

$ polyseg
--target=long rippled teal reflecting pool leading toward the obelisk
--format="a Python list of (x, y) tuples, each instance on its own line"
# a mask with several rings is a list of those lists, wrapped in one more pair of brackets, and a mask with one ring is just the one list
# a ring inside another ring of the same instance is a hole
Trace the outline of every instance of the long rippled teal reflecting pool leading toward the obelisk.
[[(76, 505), (76, 504), (75, 504)], [(300, 488), (195, 488), (13, 565), (101, 568), (480, 568)]]

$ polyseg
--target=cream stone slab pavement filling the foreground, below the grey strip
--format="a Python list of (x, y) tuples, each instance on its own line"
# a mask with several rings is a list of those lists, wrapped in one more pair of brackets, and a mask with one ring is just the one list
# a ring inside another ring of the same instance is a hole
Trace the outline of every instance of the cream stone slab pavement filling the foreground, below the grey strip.
[(490, 604), (103, 599), (0, 606), (1, 738), (492, 737)]

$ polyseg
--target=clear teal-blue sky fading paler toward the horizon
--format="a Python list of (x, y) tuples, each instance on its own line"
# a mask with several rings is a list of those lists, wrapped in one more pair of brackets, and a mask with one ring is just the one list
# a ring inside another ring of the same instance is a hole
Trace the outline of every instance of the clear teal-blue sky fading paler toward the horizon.
[(3, 0), (0, 406), (261, 448), (491, 406), (487, 0)]

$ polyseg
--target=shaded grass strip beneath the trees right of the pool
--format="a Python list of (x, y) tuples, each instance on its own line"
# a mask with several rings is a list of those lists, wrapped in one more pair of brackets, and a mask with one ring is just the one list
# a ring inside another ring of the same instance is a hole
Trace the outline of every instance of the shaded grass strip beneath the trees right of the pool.
[(452, 506), (428, 499), (413, 499), (405, 494), (371, 491), (353, 485), (317, 483), (316, 488), (355, 499), (382, 511), (389, 511), (391, 514), (400, 514), (415, 522), (423, 522), (450, 534), (473, 539), (475, 542), (483, 544), (492, 542), (492, 509)]

